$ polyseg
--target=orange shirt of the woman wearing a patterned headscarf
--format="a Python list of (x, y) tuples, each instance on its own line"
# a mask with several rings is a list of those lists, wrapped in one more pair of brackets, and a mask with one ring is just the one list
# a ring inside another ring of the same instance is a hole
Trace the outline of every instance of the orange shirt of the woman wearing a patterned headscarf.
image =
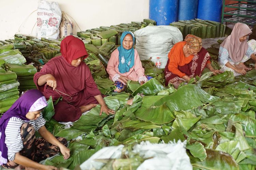
[[(178, 75), (179, 77), (183, 77), (186, 74), (181, 72), (178, 69), (178, 66), (184, 66), (188, 63), (190, 63), (194, 57), (194, 55), (189, 55), (187, 57), (185, 57), (184, 53), (183, 53), (183, 47), (186, 44), (186, 41), (181, 41), (179, 43), (176, 43), (172, 49), (170, 50), (169, 54), (168, 54), (168, 58), (169, 58), (169, 65), (168, 65), (168, 69), (170, 72), (172, 72), (173, 74)], [(209, 60), (207, 61), (207, 64), (211, 63)]]

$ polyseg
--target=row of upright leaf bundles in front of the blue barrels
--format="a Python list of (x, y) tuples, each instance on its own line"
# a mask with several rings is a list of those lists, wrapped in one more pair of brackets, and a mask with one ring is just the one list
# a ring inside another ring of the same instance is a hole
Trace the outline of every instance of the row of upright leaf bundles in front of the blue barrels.
[(170, 23), (170, 26), (179, 28), (183, 38), (187, 34), (193, 34), (201, 38), (224, 37), (226, 30), (225, 24), (201, 19), (180, 20)]

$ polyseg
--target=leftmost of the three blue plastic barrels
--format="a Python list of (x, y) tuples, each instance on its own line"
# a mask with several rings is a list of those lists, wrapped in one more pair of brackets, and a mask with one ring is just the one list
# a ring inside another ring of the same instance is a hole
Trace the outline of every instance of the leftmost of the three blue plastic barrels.
[(159, 25), (177, 21), (178, 0), (150, 0), (149, 18)]

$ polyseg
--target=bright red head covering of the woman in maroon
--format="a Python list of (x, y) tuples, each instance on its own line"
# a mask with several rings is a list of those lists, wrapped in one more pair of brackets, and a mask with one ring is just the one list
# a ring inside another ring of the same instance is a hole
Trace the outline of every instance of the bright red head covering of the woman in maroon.
[(84, 56), (83, 59), (88, 57), (85, 45), (82, 40), (69, 35), (64, 38), (60, 43), (60, 52), (65, 60), (71, 64), (72, 60)]

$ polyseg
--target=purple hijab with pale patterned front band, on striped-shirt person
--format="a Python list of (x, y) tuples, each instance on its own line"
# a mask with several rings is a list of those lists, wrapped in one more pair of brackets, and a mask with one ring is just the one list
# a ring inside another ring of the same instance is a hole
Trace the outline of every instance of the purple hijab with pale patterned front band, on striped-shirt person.
[(6, 164), (8, 161), (8, 148), (5, 144), (5, 129), (10, 118), (17, 117), (22, 120), (29, 120), (26, 118), (26, 114), (29, 112), (31, 106), (33, 106), (32, 109), (38, 110), (47, 106), (45, 98), (42, 99), (42, 97), (44, 98), (39, 90), (28, 90), (20, 96), (20, 98), (13, 103), (12, 107), (0, 118), (0, 165)]

